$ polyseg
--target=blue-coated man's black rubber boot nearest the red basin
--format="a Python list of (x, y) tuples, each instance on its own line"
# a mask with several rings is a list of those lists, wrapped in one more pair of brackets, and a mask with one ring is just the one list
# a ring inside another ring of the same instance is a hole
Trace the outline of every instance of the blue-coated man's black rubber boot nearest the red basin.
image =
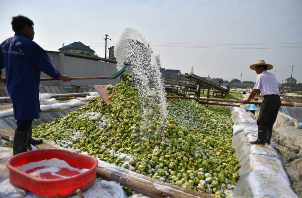
[(22, 152), (27, 152), (28, 130), (18, 131), (15, 130), (13, 141), (13, 154), (18, 155)]

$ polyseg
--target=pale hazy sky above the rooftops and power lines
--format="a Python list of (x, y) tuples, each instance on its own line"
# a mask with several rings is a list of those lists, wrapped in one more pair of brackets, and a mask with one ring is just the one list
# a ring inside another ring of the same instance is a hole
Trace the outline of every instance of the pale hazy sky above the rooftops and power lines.
[(22, 14), (34, 21), (34, 41), (45, 50), (81, 41), (104, 57), (105, 34), (113, 46), (131, 27), (166, 69), (184, 74), (193, 66), (199, 76), (224, 80), (241, 80), (242, 72), (243, 81), (255, 81), (249, 65), (265, 60), (279, 83), (291, 77), (293, 64), (293, 77), (302, 83), (301, 10), (301, 0), (0, 0), (0, 41), (14, 35), (11, 17)]

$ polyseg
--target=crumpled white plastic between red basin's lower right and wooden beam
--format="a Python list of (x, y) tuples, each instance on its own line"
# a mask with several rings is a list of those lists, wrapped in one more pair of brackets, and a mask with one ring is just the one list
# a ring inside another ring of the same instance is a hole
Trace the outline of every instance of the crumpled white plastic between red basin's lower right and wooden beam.
[[(125, 191), (120, 187), (120, 184), (115, 181), (104, 181), (96, 179), (95, 183), (82, 192), (85, 198), (127, 198)], [(34, 193), (30, 193), (25, 198), (42, 198)], [(69, 198), (79, 198), (78, 195), (70, 196)]]

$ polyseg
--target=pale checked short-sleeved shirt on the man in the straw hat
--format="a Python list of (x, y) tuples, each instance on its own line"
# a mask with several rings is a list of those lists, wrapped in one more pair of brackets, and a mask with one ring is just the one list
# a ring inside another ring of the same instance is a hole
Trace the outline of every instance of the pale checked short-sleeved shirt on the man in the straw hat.
[(268, 71), (263, 71), (257, 77), (256, 84), (254, 89), (258, 89), (261, 91), (261, 96), (265, 95), (279, 95), (279, 84), (275, 76)]

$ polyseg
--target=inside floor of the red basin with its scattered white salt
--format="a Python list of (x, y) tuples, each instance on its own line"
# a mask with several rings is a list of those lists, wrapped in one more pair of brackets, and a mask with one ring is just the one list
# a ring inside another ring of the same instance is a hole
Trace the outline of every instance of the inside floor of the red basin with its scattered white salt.
[(89, 170), (86, 168), (73, 168), (66, 161), (57, 158), (30, 162), (16, 168), (40, 179), (62, 179), (75, 176)]

